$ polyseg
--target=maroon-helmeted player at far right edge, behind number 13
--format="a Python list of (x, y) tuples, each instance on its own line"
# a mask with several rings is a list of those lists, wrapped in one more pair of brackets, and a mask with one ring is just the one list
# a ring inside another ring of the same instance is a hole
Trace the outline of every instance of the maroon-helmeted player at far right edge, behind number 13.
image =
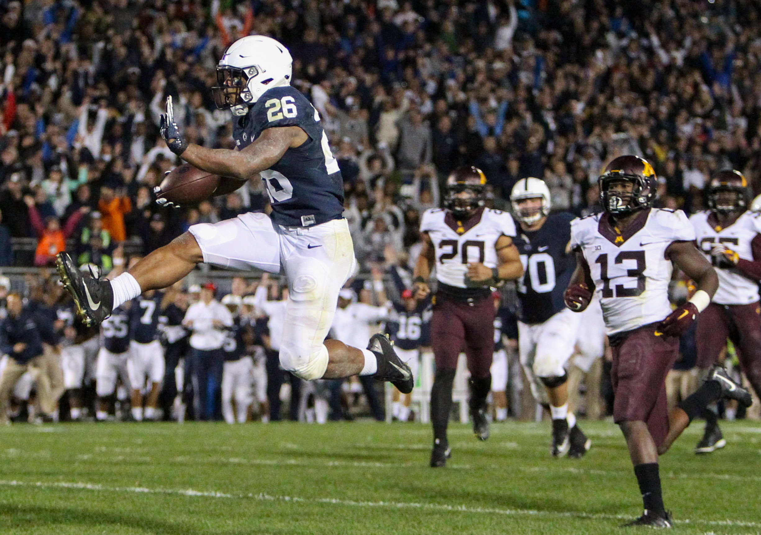
[[(731, 339), (740, 368), (756, 394), (761, 394), (761, 214), (748, 211), (749, 204), (745, 177), (736, 170), (721, 170), (708, 186), (708, 210), (689, 218), (699, 249), (718, 275), (718, 290), (698, 320), (696, 342), (700, 381)], [(716, 413), (706, 409), (704, 416), (705, 433), (696, 454), (710, 453), (727, 443)]]

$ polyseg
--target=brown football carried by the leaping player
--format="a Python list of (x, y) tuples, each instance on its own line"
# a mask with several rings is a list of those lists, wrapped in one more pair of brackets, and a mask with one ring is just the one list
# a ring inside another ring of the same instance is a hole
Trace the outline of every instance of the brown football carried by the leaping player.
[(245, 180), (219, 177), (190, 164), (182, 164), (164, 177), (158, 197), (181, 206), (193, 205), (212, 196), (231, 193), (244, 183)]

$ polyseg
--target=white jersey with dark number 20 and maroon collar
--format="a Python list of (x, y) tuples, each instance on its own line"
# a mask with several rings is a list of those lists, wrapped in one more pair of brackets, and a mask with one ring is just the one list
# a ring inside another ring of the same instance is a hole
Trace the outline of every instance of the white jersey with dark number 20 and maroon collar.
[(497, 267), (495, 244), (502, 234), (515, 236), (513, 218), (501, 210), (479, 209), (469, 221), (458, 225), (448, 210), (428, 209), (420, 221), (420, 231), (428, 232), (436, 257), (436, 278), (457, 288), (471, 288), (465, 274), (468, 263)]

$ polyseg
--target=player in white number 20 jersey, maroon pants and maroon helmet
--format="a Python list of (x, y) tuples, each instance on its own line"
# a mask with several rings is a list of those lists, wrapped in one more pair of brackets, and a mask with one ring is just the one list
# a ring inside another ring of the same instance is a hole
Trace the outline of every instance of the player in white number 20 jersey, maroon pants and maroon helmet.
[(457, 358), (464, 350), (470, 371), (470, 416), (473, 432), (489, 438), (486, 397), (492, 387), (494, 301), (491, 286), (523, 274), (512, 238), (510, 215), (484, 207), (486, 177), (472, 166), (457, 167), (447, 177), (446, 208), (423, 213), (422, 250), (415, 266), (418, 299), (429, 293), (436, 268), (437, 290), (431, 318), (436, 375), (431, 387), (434, 445), (431, 467), (444, 467), (451, 451), (447, 423)]

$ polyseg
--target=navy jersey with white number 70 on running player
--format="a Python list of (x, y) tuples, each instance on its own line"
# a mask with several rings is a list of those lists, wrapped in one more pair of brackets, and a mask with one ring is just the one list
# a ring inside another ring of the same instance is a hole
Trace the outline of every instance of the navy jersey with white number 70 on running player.
[(576, 268), (572, 252), (571, 221), (575, 215), (561, 212), (547, 217), (538, 231), (523, 231), (515, 222), (515, 246), (521, 254), (524, 276), (517, 281), (517, 317), (523, 323), (543, 323), (565, 308), (563, 292)]

